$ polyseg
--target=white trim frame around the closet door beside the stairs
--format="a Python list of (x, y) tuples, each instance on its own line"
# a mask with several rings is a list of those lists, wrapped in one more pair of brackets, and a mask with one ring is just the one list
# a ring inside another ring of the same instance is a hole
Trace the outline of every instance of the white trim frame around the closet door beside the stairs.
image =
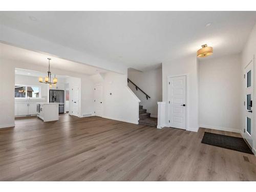
[(180, 76), (186, 77), (186, 131), (189, 131), (189, 127), (188, 127), (188, 124), (189, 124), (189, 110), (188, 110), (188, 108), (189, 108), (189, 73), (167, 76), (167, 102), (166, 102), (166, 104), (167, 104), (167, 119), (166, 119), (166, 125), (167, 125), (167, 127), (170, 127), (169, 122), (168, 122), (168, 118), (170, 116), (170, 112), (169, 112), (170, 111), (169, 78), (180, 77)]

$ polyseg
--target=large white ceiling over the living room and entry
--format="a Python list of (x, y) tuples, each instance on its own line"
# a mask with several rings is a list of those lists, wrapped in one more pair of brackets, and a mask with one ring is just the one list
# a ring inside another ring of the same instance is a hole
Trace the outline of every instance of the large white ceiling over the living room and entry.
[(0, 24), (138, 70), (203, 44), (212, 57), (239, 53), (255, 22), (249, 11), (0, 12)]

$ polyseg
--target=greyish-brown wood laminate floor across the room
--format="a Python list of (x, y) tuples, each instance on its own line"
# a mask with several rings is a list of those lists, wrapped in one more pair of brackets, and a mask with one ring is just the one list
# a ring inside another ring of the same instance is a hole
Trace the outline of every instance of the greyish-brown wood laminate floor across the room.
[(255, 181), (256, 157), (201, 143), (205, 131), (60, 115), (0, 129), (0, 180)]

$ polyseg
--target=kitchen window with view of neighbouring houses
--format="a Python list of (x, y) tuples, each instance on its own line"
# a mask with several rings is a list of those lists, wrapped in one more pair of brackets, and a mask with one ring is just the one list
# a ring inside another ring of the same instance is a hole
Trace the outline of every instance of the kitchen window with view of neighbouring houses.
[(15, 86), (15, 98), (40, 98), (40, 87)]

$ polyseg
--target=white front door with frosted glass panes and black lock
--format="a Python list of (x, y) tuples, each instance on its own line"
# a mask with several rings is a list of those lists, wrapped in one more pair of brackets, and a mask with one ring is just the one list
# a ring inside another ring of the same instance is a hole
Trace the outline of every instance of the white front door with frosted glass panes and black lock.
[(245, 67), (245, 130), (244, 138), (252, 147), (253, 141), (253, 60)]

